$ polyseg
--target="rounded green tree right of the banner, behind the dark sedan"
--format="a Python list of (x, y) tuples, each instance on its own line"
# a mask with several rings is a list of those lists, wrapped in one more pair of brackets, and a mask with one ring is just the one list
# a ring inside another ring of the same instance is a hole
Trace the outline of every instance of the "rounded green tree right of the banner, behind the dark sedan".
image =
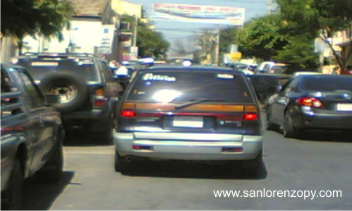
[(298, 64), (301, 69), (316, 69), (315, 36), (301, 33), (300, 30), (293, 32), (280, 13), (273, 13), (253, 20), (238, 32), (239, 49), (244, 56)]

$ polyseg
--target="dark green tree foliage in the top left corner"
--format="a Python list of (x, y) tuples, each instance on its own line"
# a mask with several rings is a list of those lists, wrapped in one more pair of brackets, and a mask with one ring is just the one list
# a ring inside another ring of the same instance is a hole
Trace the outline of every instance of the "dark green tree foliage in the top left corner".
[(61, 30), (72, 13), (73, 6), (66, 0), (1, 1), (1, 35), (13, 35), (21, 40), (25, 35), (39, 32), (61, 39)]

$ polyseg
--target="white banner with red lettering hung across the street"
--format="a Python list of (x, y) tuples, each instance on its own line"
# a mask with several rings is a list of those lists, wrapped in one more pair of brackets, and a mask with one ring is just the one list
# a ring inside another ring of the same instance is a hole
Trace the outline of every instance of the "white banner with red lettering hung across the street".
[(243, 25), (245, 8), (190, 4), (153, 4), (154, 20)]

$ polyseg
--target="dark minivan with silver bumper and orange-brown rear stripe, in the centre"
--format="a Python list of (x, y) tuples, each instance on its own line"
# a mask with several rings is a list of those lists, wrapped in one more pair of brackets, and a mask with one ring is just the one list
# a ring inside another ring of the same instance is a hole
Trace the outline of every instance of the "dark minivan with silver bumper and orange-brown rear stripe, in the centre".
[(115, 170), (138, 158), (229, 161), (262, 167), (263, 128), (253, 86), (231, 68), (155, 67), (135, 72), (119, 102)]

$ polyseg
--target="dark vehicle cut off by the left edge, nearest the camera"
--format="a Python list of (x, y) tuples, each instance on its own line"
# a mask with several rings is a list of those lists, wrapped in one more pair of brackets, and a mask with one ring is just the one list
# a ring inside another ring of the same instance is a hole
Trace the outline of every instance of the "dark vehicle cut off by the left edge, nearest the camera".
[(59, 181), (65, 133), (49, 105), (58, 100), (44, 98), (24, 68), (1, 65), (1, 210), (20, 210), (23, 179)]

